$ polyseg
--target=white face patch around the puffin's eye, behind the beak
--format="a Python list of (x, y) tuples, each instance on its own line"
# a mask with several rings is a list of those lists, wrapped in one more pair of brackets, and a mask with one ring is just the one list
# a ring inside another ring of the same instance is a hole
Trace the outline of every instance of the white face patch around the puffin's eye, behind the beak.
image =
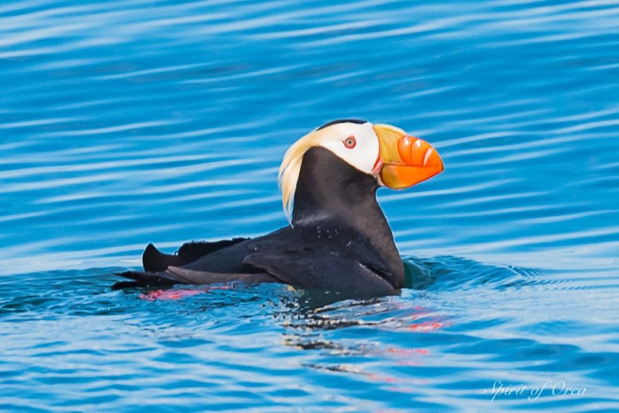
[(338, 123), (327, 126), (324, 138), (318, 146), (322, 146), (337, 155), (347, 164), (361, 172), (371, 175), (372, 168), (378, 159), (378, 136), (370, 122), (364, 124)]

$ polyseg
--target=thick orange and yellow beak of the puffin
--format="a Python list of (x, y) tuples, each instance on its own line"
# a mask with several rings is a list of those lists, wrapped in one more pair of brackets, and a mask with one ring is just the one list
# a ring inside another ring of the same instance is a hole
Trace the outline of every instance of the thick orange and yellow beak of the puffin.
[(428, 142), (406, 135), (395, 126), (373, 126), (380, 145), (374, 174), (384, 186), (393, 189), (409, 188), (443, 172), (443, 161)]

